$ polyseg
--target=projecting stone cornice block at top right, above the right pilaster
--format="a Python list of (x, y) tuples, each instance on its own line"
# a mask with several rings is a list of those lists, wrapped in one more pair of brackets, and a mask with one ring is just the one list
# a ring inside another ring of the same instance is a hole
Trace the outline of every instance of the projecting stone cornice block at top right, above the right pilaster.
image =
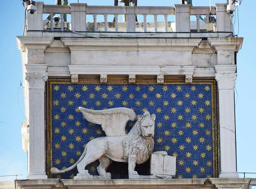
[(208, 38), (208, 43), (211, 45), (211, 48), (215, 49), (215, 51), (234, 50), (235, 52), (238, 52), (242, 48), (243, 38)]

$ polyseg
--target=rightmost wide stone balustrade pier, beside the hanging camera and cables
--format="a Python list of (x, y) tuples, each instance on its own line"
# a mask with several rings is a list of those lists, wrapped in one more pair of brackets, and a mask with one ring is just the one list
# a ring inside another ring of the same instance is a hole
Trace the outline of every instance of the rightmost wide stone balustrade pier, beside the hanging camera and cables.
[(232, 22), (225, 3), (216, 3), (216, 28), (217, 32), (232, 32)]

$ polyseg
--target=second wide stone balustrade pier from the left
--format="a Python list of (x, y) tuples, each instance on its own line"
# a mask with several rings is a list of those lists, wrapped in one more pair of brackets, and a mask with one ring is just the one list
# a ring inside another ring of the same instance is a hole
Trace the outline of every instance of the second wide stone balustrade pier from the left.
[(86, 31), (86, 3), (70, 3), (73, 31)]

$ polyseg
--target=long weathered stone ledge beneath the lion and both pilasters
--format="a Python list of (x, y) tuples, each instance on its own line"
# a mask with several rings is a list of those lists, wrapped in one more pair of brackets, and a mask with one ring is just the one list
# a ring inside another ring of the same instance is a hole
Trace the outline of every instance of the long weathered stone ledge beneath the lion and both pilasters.
[[(61, 180), (66, 188), (76, 189), (95, 189), (95, 188), (113, 188), (113, 189), (132, 189), (132, 188), (233, 188), (247, 189), (251, 179), (248, 178), (210, 178), (210, 179), (116, 179), (116, 180)], [(18, 189), (38, 189), (55, 188), (58, 179), (45, 180), (16, 180)], [(55, 188), (56, 189), (56, 188)]]

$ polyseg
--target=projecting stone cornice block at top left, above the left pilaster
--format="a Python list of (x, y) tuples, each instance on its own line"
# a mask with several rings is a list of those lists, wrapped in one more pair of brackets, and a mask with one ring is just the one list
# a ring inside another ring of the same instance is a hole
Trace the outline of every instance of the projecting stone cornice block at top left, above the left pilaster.
[(28, 49), (43, 49), (51, 45), (54, 37), (30, 37), (30, 36), (18, 36), (17, 48), (24, 51), (24, 47)]

